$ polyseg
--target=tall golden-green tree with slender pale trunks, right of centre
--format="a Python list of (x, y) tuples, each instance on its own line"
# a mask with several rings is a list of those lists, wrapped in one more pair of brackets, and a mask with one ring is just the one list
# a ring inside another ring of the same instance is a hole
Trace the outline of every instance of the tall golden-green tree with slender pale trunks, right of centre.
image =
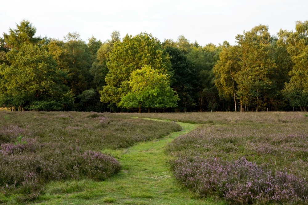
[(268, 27), (259, 25), (236, 36), (235, 46), (225, 46), (214, 72), (220, 95), (233, 96), (243, 104), (265, 110), (276, 91), (273, 38)]

